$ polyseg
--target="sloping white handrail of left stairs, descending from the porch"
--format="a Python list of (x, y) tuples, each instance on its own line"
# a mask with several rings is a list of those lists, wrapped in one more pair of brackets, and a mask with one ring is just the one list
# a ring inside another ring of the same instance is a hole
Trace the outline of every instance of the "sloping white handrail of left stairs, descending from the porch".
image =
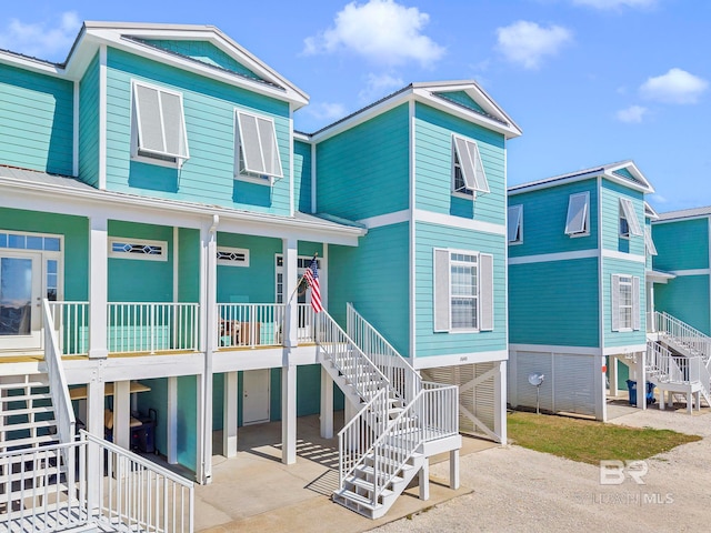
[(50, 302), (47, 299), (42, 301), (42, 320), (44, 325), (44, 363), (47, 364), (49, 392), (52, 396), (57, 433), (60, 442), (71, 442), (74, 439), (74, 410), (69, 398), (69, 388), (67, 386), (67, 378), (64, 376), (64, 368), (61, 361), (62, 354), (59, 350), (57, 332), (53, 328)]

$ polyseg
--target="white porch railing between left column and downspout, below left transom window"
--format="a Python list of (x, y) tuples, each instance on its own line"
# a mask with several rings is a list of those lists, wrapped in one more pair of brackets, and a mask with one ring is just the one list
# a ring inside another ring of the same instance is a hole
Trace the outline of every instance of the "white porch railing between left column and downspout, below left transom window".
[(109, 303), (109, 352), (198, 351), (199, 304)]

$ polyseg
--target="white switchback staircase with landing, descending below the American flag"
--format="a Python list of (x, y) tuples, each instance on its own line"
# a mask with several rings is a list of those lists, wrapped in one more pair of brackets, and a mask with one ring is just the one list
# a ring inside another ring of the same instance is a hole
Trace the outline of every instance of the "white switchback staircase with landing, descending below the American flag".
[(320, 361), (347, 401), (359, 410), (338, 435), (339, 489), (332, 497), (378, 519), (422, 471), (430, 455), (461, 447), (458, 390), (423, 382), (351, 306), (349, 329), (353, 336), (327, 312), (320, 313)]

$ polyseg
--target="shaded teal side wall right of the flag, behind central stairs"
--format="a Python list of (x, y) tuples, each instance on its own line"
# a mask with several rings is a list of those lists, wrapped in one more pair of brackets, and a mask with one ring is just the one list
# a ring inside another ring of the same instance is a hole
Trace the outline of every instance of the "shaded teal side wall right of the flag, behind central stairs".
[(409, 354), (409, 224), (372, 229), (358, 248), (329, 247), (329, 312), (346, 324), (346, 303), (402, 355)]

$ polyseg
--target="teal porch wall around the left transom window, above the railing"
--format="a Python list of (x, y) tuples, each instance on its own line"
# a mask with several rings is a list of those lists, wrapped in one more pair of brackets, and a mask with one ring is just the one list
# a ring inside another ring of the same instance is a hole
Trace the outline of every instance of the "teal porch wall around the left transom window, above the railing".
[(168, 261), (109, 258), (109, 301), (172, 302), (173, 229), (110, 220), (109, 237), (168, 242)]

